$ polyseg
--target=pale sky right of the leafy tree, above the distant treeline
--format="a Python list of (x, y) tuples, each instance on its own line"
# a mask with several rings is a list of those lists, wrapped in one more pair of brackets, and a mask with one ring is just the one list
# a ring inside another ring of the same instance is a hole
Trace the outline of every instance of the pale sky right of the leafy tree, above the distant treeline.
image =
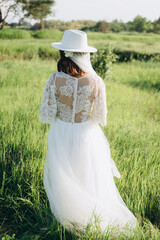
[(63, 21), (114, 19), (124, 22), (137, 15), (155, 20), (160, 17), (160, 0), (55, 0), (55, 17)]

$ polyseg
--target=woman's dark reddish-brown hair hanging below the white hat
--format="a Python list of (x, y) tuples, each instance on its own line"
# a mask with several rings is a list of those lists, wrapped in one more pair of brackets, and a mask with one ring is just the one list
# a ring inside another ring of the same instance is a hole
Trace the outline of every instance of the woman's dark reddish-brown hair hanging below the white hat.
[(73, 77), (81, 77), (85, 74), (69, 57), (65, 57), (64, 51), (61, 50), (57, 69), (58, 72), (64, 72)]

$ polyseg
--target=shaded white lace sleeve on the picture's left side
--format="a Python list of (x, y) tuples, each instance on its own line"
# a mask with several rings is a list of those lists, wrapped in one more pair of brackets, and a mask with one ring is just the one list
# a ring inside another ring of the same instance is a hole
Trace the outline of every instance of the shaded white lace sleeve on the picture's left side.
[(55, 74), (51, 74), (46, 82), (41, 108), (40, 108), (40, 122), (51, 124), (57, 113), (57, 103), (55, 97), (56, 85)]

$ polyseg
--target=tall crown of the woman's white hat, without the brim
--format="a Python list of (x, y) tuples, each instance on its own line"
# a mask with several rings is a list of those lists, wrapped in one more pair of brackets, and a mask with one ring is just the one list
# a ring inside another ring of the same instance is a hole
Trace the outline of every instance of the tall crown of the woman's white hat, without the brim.
[(62, 37), (62, 45), (68, 49), (87, 48), (87, 34), (80, 30), (66, 30)]

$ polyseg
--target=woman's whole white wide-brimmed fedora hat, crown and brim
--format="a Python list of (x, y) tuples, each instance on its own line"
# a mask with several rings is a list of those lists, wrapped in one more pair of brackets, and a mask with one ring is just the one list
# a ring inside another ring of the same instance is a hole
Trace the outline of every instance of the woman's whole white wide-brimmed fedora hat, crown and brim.
[(87, 44), (87, 34), (80, 30), (64, 31), (62, 42), (52, 43), (52, 47), (69, 52), (96, 52), (97, 49)]

